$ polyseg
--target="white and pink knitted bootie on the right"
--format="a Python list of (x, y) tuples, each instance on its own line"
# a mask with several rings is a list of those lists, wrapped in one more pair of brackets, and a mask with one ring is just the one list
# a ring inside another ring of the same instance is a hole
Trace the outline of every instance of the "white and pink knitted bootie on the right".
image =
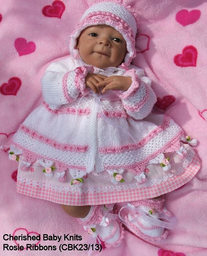
[[(165, 199), (163, 195), (155, 199), (132, 201), (131, 205), (129, 204), (129, 208), (141, 209), (145, 213), (144, 216), (147, 215), (148, 220), (143, 217), (142, 213), (137, 214), (133, 212), (132, 209), (129, 214), (125, 216), (127, 228), (135, 235), (148, 241), (157, 241), (166, 238), (168, 231), (166, 231), (164, 227), (150, 223), (150, 221), (153, 222), (151, 218), (160, 220), (158, 213), (163, 213), (168, 217), (171, 216), (171, 213), (163, 207), (164, 201)], [(136, 222), (128, 222), (135, 218), (137, 218)]]

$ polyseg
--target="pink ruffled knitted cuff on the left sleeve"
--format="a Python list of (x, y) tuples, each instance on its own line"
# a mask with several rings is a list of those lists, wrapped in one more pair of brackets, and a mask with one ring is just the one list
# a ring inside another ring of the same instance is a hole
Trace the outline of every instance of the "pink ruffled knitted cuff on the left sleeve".
[(82, 66), (77, 67), (75, 70), (76, 77), (75, 77), (75, 86), (84, 95), (85, 93), (89, 92), (88, 89), (86, 89), (85, 84), (85, 77), (87, 76), (88, 72), (93, 72), (92, 66)]

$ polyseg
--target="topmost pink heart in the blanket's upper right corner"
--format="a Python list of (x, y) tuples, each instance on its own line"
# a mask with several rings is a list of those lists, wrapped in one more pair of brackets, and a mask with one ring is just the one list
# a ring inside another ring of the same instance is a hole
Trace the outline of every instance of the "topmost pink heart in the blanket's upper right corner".
[(192, 10), (190, 12), (188, 12), (187, 10), (181, 10), (175, 16), (176, 21), (178, 21), (178, 23), (180, 23), (183, 26), (195, 23), (199, 18), (199, 10)]

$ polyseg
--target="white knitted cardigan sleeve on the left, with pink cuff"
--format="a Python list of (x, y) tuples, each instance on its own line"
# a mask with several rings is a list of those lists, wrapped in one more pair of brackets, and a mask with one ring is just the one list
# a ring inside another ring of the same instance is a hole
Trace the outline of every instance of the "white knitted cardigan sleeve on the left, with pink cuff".
[(41, 79), (44, 101), (52, 109), (72, 103), (80, 93), (88, 92), (85, 77), (89, 71), (93, 71), (91, 66), (76, 67), (71, 57), (50, 64)]

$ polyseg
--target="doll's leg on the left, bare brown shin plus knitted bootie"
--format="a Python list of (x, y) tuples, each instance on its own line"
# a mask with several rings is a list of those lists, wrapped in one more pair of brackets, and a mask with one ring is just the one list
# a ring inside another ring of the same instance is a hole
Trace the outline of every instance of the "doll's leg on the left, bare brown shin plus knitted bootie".
[(117, 247), (121, 243), (124, 237), (122, 224), (103, 216), (104, 205), (61, 206), (68, 215), (77, 217), (78, 222), (93, 238), (98, 236), (104, 241), (106, 247)]

